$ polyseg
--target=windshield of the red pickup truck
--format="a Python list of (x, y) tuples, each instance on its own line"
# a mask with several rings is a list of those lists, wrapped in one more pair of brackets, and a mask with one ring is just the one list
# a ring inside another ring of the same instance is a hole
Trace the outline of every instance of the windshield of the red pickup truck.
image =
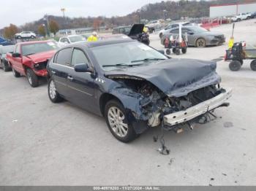
[(33, 55), (39, 52), (56, 50), (58, 46), (55, 42), (40, 42), (35, 44), (23, 44), (21, 47), (23, 55)]

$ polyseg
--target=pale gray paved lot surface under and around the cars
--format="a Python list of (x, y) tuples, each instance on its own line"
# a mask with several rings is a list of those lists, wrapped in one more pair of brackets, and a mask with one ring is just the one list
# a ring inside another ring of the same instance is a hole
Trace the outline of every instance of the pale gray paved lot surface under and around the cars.
[[(256, 44), (256, 20), (237, 23), (236, 41)], [(227, 39), (231, 25), (213, 28)], [(161, 48), (157, 34), (151, 45)], [(176, 58), (212, 60), (227, 44), (189, 48)], [(170, 155), (159, 155), (152, 128), (130, 144), (110, 134), (105, 120), (64, 102), (52, 104), (46, 81), (31, 88), (25, 77), (0, 71), (1, 185), (256, 185), (256, 73), (249, 61), (232, 72), (218, 62), (222, 86), (233, 88), (218, 120), (176, 134), (165, 132)]]

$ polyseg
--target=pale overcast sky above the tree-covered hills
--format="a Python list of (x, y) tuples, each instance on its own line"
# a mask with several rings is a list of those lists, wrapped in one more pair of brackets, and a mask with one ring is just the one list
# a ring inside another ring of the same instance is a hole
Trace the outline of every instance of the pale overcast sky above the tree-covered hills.
[(1, 1), (0, 28), (13, 23), (17, 26), (43, 15), (62, 15), (67, 9), (68, 17), (127, 15), (145, 4), (162, 0), (4, 0)]

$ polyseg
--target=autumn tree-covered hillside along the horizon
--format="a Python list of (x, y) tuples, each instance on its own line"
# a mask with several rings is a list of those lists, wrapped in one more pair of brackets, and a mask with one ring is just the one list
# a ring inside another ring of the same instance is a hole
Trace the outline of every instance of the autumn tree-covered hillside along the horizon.
[[(155, 4), (146, 4), (135, 12), (122, 17), (58, 17), (48, 15), (48, 29), (51, 33), (56, 34), (59, 29), (65, 28), (87, 28), (92, 27), (97, 30), (99, 27), (113, 28), (114, 26), (127, 26), (133, 23), (139, 23), (141, 20), (157, 20), (170, 18), (171, 20), (179, 20), (181, 17), (208, 17), (209, 7), (211, 4), (233, 4), (244, 2), (256, 2), (256, 0), (212, 0), (212, 1), (161, 1)], [(0, 31), (7, 38), (11, 38), (18, 31), (34, 31), (45, 36), (45, 19), (36, 20), (26, 23), (19, 28), (10, 25)]]

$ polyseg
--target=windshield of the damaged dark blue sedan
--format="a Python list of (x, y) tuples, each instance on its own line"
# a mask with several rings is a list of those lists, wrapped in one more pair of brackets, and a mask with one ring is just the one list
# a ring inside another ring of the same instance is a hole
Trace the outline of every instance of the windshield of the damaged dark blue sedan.
[(92, 47), (91, 50), (104, 70), (140, 66), (150, 61), (167, 59), (162, 53), (140, 42), (109, 44)]

